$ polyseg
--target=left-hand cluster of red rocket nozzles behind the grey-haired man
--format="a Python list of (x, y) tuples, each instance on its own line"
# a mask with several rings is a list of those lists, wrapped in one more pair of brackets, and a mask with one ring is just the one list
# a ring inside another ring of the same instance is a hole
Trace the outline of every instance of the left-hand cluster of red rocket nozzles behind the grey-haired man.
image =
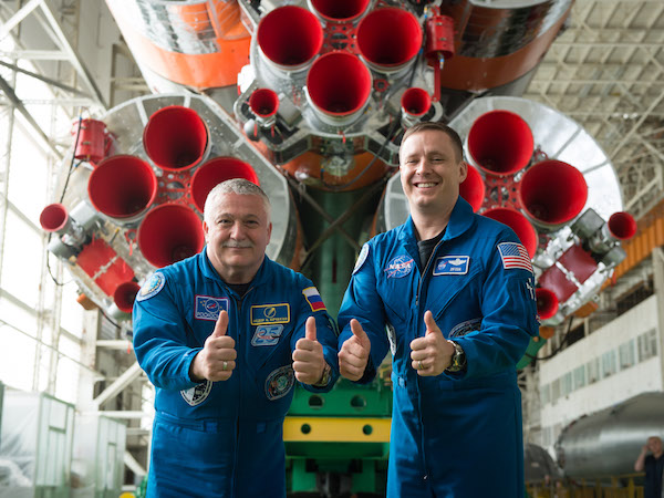
[(101, 268), (122, 258), (102, 240), (93, 240), (93, 227), (105, 220), (123, 227), (143, 257), (162, 268), (203, 249), (201, 217), (215, 185), (230, 178), (259, 184), (259, 178), (238, 158), (208, 158), (207, 125), (189, 107), (167, 106), (149, 117), (143, 133), (149, 162), (127, 154), (104, 157), (110, 151), (104, 123), (84, 120), (80, 125), (74, 157), (94, 166), (87, 178), (90, 203), (80, 203), (71, 212), (62, 204), (51, 204), (42, 210), (40, 224), (58, 236), (49, 245), (51, 252), (62, 259), (84, 258), (81, 267), (96, 278), (117, 309), (128, 313), (138, 283), (126, 263), (98, 277)]

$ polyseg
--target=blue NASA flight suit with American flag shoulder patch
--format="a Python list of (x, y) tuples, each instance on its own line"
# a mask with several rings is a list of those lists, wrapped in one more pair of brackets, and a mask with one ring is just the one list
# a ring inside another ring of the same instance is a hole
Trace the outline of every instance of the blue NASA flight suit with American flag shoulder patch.
[[(339, 313), (339, 345), (357, 319), (371, 340), (361, 383), (392, 350), (388, 497), (522, 497), (515, 365), (539, 330), (523, 252), (510, 228), (473, 214), (460, 197), (426, 269), (411, 218), (363, 247)], [(423, 377), (412, 367), (409, 344), (425, 335), (427, 310), (464, 349), (465, 372)]]

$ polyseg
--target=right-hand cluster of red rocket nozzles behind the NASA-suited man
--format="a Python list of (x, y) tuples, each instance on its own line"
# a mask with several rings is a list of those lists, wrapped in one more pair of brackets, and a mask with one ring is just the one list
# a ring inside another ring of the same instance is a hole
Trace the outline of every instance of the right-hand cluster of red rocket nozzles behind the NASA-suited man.
[[(535, 152), (531, 129), (519, 115), (504, 110), (480, 115), (468, 132), (468, 176), (460, 195), (475, 211), (517, 234), (530, 258), (553, 232), (577, 218), (588, 200), (588, 185), (577, 167)], [(636, 222), (615, 212), (585, 241), (585, 251), (601, 255), (634, 236)], [(540, 282), (542, 283), (542, 282)], [(559, 307), (554, 290), (536, 290), (543, 320)]]

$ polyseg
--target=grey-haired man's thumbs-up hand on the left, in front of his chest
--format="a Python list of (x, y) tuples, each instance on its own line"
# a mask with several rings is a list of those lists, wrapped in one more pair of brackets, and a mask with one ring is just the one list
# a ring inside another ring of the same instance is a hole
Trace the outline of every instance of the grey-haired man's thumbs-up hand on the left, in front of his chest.
[(215, 330), (206, 339), (203, 350), (194, 357), (189, 369), (189, 377), (194, 382), (208, 380), (211, 382), (228, 381), (236, 366), (238, 353), (235, 350), (235, 340), (226, 335), (228, 329), (228, 313), (221, 310)]

